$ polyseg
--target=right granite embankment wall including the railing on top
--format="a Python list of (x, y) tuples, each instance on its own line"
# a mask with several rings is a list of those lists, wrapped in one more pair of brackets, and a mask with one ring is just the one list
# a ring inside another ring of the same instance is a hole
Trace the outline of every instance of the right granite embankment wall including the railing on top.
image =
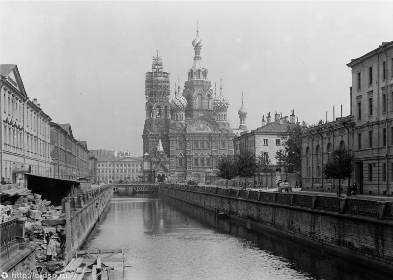
[(393, 275), (393, 203), (160, 183), (159, 193)]

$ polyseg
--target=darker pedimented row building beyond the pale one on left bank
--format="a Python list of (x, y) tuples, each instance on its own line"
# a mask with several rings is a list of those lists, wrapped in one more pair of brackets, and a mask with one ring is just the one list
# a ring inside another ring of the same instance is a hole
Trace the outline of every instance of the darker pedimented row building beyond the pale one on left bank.
[(86, 141), (74, 138), (69, 123), (50, 123), (51, 175), (61, 179), (89, 178), (89, 151)]

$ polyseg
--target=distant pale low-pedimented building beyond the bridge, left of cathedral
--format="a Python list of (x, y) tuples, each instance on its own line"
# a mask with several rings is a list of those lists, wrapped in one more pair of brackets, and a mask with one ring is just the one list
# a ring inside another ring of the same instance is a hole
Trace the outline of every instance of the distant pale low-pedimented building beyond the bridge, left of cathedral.
[(133, 182), (140, 181), (142, 158), (97, 157), (96, 182)]

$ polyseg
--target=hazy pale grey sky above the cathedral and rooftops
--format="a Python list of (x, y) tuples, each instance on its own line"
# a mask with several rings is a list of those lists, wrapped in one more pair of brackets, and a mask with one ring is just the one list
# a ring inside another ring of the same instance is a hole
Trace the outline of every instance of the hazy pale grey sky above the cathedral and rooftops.
[(393, 1), (0, 1), (0, 63), (89, 149), (139, 156), (145, 73), (158, 51), (184, 88), (197, 21), (232, 128), (242, 93), (249, 130), (276, 111), (311, 124), (350, 114), (346, 64), (393, 40)]

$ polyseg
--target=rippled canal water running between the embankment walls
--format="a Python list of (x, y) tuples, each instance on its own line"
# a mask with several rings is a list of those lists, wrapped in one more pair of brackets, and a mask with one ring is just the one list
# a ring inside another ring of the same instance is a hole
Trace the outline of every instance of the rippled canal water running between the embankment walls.
[(108, 263), (111, 279), (389, 279), (184, 202), (121, 189), (83, 249), (120, 248), (129, 267)]

